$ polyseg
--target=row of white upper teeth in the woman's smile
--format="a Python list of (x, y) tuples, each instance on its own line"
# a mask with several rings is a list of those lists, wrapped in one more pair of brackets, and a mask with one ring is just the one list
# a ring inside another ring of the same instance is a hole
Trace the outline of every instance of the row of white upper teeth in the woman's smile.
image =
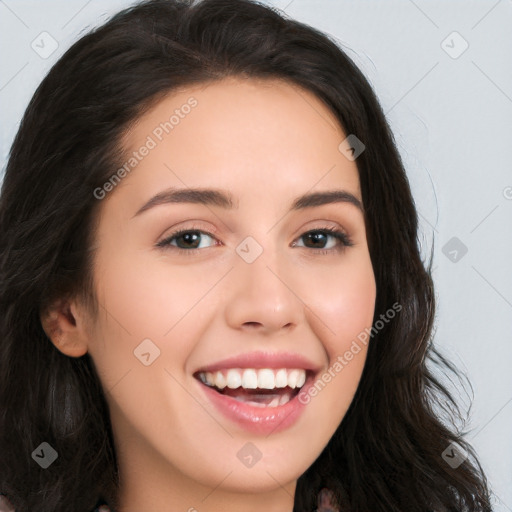
[(199, 378), (208, 386), (215, 386), (224, 389), (237, 389), (240, 386), (244, 389), (275, 389), (286, 386), (296, 389), (301, 388), (306, 382), (306, 370), (280, 368), (271, 370), (269, 368), (230, 368), (227, 372), (201, 372)]

